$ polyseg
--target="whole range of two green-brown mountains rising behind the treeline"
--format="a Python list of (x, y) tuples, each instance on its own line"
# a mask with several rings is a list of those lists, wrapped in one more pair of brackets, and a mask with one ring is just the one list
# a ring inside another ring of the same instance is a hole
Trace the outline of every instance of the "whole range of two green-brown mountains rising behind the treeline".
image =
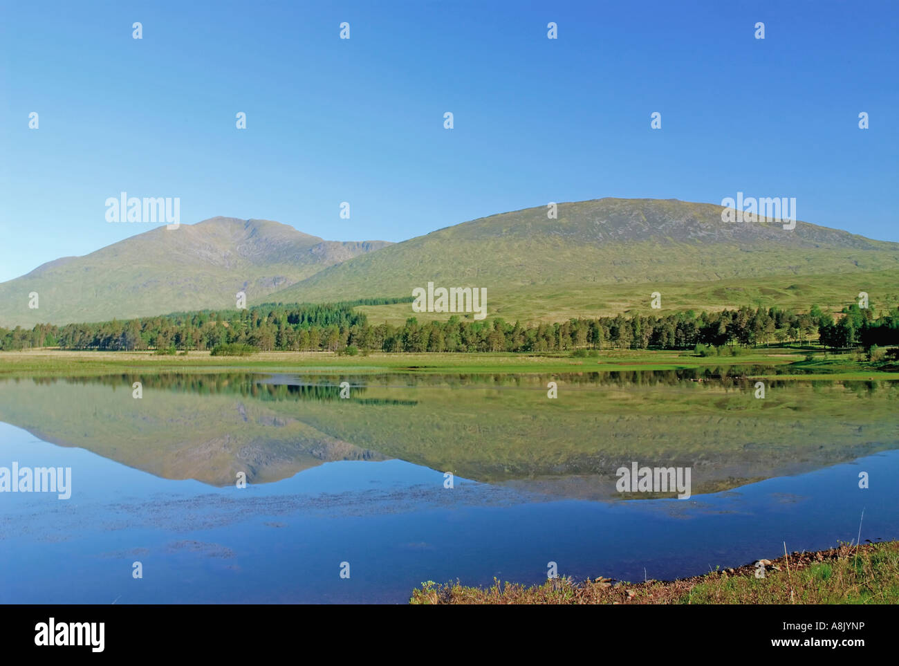
[[(269, 220), (211, 218), (158, 227), (0, 284), (0, 325), (66, 324), (248, 304), (409, 297), (418, 287), (487, 289), (488, 315), (552, 320), (743, 304), (840, 306), (859, 290), (885, 304), (899, 243), (778, 220), (727, 223), (721, 206), (601, 199), (448, 226), (402, 243), (333, 242)], [(29, 294), (40, 306), (30, 309)], [(408, 303), (368, 306), (403, 320)], [(383, 315), (383, 316), (379, 316)], [(445, 317), (447, 315), (426, 314)]]

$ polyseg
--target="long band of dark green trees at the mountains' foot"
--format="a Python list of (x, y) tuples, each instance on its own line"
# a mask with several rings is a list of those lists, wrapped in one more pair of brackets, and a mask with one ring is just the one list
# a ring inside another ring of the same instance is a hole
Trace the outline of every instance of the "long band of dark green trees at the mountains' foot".
[[(371, 304), (408, 298), (369, 299)], [(368, 305), (369, 303), (366, 303)], [(899, 308), (879, 318), (852, 305), (841, 316), (812, 306), (808, 313), (741, 307), (721, 312), (618, 315), (556, 324), (509, 324), (503, 319), (369, 324), (354, 311), (360, 301), (329, 305), (270, 304), (242, 310), (139, 317), (100, 324), (38, 324), (31, 331), (0, 328), (0, 349), (59, 346), (69, 350), (212, 350), (224, 345), (259, 351), (571, 351), (579, 349), (687, 350), (696, 345), (756, 346), (811, 342), (826, 347), (899, 344)]]

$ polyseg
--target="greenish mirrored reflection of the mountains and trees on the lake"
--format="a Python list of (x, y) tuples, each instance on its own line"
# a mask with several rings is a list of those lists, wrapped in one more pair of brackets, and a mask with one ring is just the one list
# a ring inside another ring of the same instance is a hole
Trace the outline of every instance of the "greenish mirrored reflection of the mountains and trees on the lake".
[[(277, 481), (330, 460), (400, 458), (491, 484), (620, 499), (620, 466), (690, 467), (711, 493), (896, 448), (895, 382), (743, 370), (555, 376), (116, 376), (0, 381), (0, 420), (150, 474)], [(547, 381), (564, 399), (547, 399)], [(143, 382), (143, 397), (131, 385)], [(340, 382), (349, 380), (349, 398)], [(645, 498), (647, 495), (640, 495)]]

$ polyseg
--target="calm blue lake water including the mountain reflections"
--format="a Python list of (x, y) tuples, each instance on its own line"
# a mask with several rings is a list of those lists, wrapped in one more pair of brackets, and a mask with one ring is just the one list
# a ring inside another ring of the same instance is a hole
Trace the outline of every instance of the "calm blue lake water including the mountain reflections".
[[(3, 381), (0, 467), (71, 467), (72, 494), (0, 493), (0, 602), (405, 602), (550, 561), (704, 573), (850, 541), (862, 511), (862, 540), (899, 537), (899, 386), (757, 399), (731, 373)], [(690, 466), (692, 496), (622, 496), (631, 462)]]

